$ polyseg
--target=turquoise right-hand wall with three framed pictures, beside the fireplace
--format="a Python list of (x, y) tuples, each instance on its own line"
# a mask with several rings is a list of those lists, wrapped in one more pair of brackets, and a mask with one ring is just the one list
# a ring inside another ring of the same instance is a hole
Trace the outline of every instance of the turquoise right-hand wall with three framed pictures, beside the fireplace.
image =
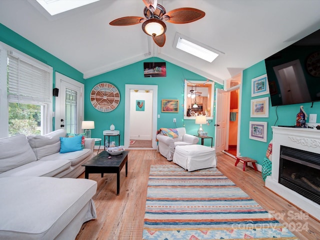
[[(241, 122), (240, 122), (240, 153), (242, 156), (248, 156), (258, 161), (262, 165), (263, 157), (272, 139), (273, 125), (295, 125), (296, 114), (300, 110), (300, 105), (307, 114), (320, 113), (320, 102), (311, 102), (302, 104), (292, 104), (283, 106), (271, 106), (270, 95), (260, 95), (251, 97), (251, 79), (266, 73), (264, 60), (243, 70), (242, 94), (241, 94)], [(250, 117), (251, 99), (260, 97), (269, 97), (269, 117)], [(318, 122), (319, 116), (317, 117)], [(257, 141), (249, 139), (249, 121), (266, 121), (267, 122), (267, 141)], [(308, 120), (307, 120), (308, 122)], [(253, 150), (254, 149), (254, 150)]]

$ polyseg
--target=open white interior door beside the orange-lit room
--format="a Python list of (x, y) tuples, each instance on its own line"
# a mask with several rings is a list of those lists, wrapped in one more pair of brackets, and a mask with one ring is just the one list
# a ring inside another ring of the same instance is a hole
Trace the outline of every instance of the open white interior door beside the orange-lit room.
[(216, 151), (221, 151), (227, 147), (228, 136), (228, 120), (229, 114), (229, 92), (222, 89), (216, 89), (216, 102), (215, 102), (215, 136), (214, 147)]

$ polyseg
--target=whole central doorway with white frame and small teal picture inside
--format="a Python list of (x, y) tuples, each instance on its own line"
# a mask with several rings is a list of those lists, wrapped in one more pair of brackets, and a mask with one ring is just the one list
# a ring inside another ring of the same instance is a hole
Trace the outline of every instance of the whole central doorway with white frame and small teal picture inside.
[(125, 85), (124, 148), (156, 149), (157, 85)]

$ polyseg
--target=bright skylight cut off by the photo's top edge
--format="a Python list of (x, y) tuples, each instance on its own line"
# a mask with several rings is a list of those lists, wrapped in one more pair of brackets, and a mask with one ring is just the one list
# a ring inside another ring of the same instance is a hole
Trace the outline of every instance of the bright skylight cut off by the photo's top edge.
[(50, 15), (68, 11), (98, 0), (36, 0)]

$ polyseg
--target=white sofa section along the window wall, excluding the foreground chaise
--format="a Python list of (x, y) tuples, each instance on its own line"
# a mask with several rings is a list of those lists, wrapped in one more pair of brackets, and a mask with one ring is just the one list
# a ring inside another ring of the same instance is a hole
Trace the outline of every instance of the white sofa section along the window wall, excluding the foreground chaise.
[(60, 137), (64, 129), (45, 135), (16, 135), (0, 140), (0, 177), (4, 176), (54, 176), (77, 177), (81, 166), (93, 156), (94, 139), (85, 139), (79, 151), (59, 153)]

